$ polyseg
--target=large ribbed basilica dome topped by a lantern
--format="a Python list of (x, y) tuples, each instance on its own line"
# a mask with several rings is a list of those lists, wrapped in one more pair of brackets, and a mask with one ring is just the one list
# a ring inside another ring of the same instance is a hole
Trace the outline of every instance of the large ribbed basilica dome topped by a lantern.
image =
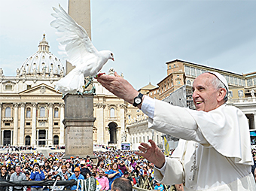
[(45, 35), (43, 35), (38, 51), (27, 58), (20, 69), (17, 69), (17, 76), (63, 76), (64, 66), (60, 59), (50, 53), (49, 48)]

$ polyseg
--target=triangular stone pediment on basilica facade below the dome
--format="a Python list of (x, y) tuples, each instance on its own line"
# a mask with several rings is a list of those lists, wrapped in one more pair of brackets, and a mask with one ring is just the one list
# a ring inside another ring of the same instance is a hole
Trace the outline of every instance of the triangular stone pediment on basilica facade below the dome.
[(57, 92), (53, 87), (41, 83), (38, 86), (26, 89), (20, 92), (20, 95), (62, 95), (61, 92)]

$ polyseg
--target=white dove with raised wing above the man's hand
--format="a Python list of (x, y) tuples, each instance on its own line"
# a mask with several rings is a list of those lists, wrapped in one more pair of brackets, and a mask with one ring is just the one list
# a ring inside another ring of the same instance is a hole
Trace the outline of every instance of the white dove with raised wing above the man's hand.
[(108, 50), (96, 50), (85, 29), (79, 26), (60, 5), (59, 10), (53, 8), (53, 11), (56, 12), (52, 14), (56, 20), (53, 20), (50, 26), (57, 29), (56, 34), (59, 36), (57, 41), (65, 47), (69, 62), (75, 65), (66, 77), (56, 83), (55, 89), (63, 95), (82, 93), (84, 77), (96, 76), (108, 59), (114, 61), (114, 55)]

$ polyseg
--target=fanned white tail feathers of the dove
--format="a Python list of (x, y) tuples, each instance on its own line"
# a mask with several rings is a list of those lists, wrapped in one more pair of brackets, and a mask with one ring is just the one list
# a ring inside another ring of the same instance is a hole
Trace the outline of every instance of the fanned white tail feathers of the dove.
[(84, 74), (74, 74), (72, 71), (56, 83), (55, 89), (62, 92), (63, 95), (75, 94), (84, 90)]

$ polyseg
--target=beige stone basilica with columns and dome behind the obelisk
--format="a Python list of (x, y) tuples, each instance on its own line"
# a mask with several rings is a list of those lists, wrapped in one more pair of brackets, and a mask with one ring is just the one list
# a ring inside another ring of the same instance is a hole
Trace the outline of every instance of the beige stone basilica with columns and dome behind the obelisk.
[[(30, 56), (17, 69), (17, 76), (8, 77), (0, 69), (0, 144), (34, 147), (54, 147), (65, 144), (64, 101), (56, 92), (55, 83), (64, 74), (59, 59), (43, 40), (38, 52)], [(108, 74), (113, 75), (111, 68)], [(120, 148), (128, 141), (126, 130), (127, 105), (108, 92), (96, 80), (93, 98), (93, 144)]]

